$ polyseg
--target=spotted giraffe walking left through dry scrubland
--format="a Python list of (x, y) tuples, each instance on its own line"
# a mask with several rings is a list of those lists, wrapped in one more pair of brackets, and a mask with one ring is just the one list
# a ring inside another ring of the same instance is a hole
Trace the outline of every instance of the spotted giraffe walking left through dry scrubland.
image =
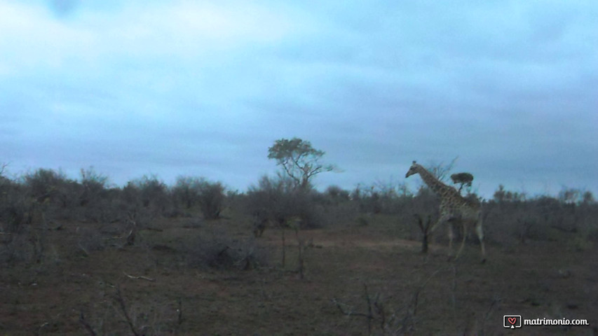
[[(428, 185), (428, 187), (437, 195), (440, 196), (440, 218), (433, 225), (433, 231), (438, 225), (449, 221), (460, 221), (461, 230), (463, 232), (463, 241), (461, 241), (461, 247), (455, 256), (455, 259), (459, 257), (463, 246), (465, 246), (465, 239), (468, 232), (468, 225), (475, 226), (475, 232), (477, 238), (480, 239), (480, 248), (482, 249), (482, 262), (486, 261), (486, 250), (484, 248), (484, 233), (482, 232), (482, 208), (477, 202), (466, 200), (459, 195), (458, 191), (450, 186), (445, 185), (438, 179), (430, 174), (426, 168), (418, 165), (417, 162), (413, 162), (413, 165), (409, 168), (405, 178), (412, 176), (413, 174), (419, 174), (421, 179)], [(453, 238), (454, 232), (452, 225), (449, 225), (449, 250), (452, 255), (453, 253)]]

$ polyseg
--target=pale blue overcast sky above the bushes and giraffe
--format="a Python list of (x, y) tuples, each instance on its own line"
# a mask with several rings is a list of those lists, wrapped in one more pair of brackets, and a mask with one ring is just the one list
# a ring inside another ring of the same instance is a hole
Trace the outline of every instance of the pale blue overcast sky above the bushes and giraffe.
[(343, 170), (320, 189), (458, 156), (485, 197), (595, 195), (596, 18), (594, 0), (0, 0), (0, 162), (244, 191), (299, 137)]

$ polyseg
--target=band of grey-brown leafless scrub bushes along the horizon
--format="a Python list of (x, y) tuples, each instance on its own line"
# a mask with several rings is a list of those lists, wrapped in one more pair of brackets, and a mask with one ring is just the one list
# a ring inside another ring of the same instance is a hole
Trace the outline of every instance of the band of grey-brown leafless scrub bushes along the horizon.
[[(262, 225), (260, 233), (269, 227), (280, 228), (290, 218), (299, 218), (297, 229), (305, 230), (339, 223), (367, 226), (372, 215), (380, 214), (395, 218), (403, 238), (413, 240), (423, 235), (419, 221), (435, 223), (438, 217), (439, 200), (426, 187), (412, 191), (402, 183), (373, 183), (353, 190), (330, 186), (324, 192), (307, 187), (297, 188), (296, 181), (280, 174), (261, 177), (247, 193), (227, 193), (222, 183), (192, 176), (180, 176), (174, 186), (167, 186), (157, 176), (143, 176), (118, 188), (92, 168), (81, 169), (76, 180), (51, 169), (38, 169), (16, 179), (2, 176), (0, 262), (39, 262), (45, 246), (43, 230), (60, 230), (62, 221), (81, 223), (78, 244), (89, 253), (120, 246), (111, 239), (127, 239), (125, 236), (151, 226), (156, 218), (188, 218), (193, 211), (203, 214), (205, 220), (221, 218), (226, 211), (243, 213)], [(468, 197), (479, 200), (475, 194)], [(598, 205), (585, 190), (563, 188), (555, 196), (527, 197), (499, 186), (491, 200), (479, 202), (484, 209), (486, 237), (496, 244), (566, 239), (572, 248), (585, 249), (598, 240)], [(85, 223), (104, 223), (106, 229), (93, 232)], [(438, 235), (444, 239), (442, 236)]]

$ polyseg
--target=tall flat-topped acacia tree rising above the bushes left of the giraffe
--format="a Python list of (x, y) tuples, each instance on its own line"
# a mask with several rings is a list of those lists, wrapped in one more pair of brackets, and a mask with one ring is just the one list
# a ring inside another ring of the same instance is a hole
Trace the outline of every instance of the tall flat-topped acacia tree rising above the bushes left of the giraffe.
[(307, 190), (313, 176), (334, 170), (334, 165), (320, 163), (324, 154), (324, 151), (313, 148), (309, 141), (299, 138), (276, 140), (268, 148), (268, 158), (283, 167), (285, 174), (294, 182), (294, 188), (299, 190)]

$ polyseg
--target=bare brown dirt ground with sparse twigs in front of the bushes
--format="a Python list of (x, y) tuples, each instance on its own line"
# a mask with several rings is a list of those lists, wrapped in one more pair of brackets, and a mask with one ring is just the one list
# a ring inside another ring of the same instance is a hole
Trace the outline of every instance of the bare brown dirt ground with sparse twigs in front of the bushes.
[[(0, 335), (598, 335), (596, 247), (489, 239), (482, 265), (472, 240), (448, 261), (442, 239), (422, 255), (396, 223), (374, 218), (299, 232), (301, 279), (294, 232), (285, 235), (282, 267), (280, 230), (253, 241), (249, 220), (189, 221), (151, 223), (135, 245), (115, 239), (100, 251), (78, 247), (82, 228), (102, 231), (100, 224), (44, 232), (43, 262), (1, 271)], [(252, 241), (261, 265), (186, 261), (180, 246), (219, 235)], [(590, 325), (511, 330), (504, 315)]]

